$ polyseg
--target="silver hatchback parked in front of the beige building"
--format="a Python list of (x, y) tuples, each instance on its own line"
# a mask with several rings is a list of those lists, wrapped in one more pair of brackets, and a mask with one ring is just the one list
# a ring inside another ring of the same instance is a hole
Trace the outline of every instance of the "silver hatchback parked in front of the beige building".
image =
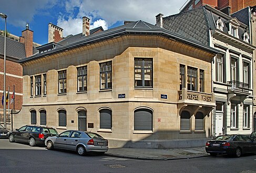
[(108, 140), (97, 133), (68, 130), (59, 135), (48, 137), (45, 140), (47, 149), (66, 149), (76, 151), (78, 155), (86, 155), (87, 152), (108, 151)]

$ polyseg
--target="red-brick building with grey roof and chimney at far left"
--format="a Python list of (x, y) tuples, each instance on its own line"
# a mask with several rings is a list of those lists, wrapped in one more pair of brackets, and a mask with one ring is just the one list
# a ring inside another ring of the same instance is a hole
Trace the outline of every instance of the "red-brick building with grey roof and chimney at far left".
[[(0, 95), (1, 100), (4, 92), (4, 31), (0, 34)], [(3, 36), (2, 36), (3, 35)], [(6, 93), (9, 90), (9, 98), (11, 101), (15, 85), (15, 103), (9, 105), (9, 110), (21, 110), (22, 108), (22, 76), (23, 70), (21, 64), (17, 61), (23, 58), (32, 56), (37, 52), (34, 46), (38, 44), (33, 43), (33, 31), (29, 30), (28, 24), (22, 36), (17, 37), (12, 34), (7, 34), (6, 38)], [(14, 107), (15, 106), (15, 107)], [(8, 104), (6, 105), (6, 125), (11, 129), (11, 116), (8, 112)], [(4, 108), (0, 104), (0, 123), (4, 124)]]

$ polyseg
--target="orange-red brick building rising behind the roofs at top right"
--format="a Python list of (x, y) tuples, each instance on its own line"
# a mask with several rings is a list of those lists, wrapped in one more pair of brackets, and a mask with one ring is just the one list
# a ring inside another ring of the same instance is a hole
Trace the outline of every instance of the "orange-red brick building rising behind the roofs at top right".
[(230, 13), (234, 13), (248, 6), (255, 6), (256, 1), (252, 1), (252, 0), (188, 0), (180, 8), (180, 12), (185, 12), (190, 9), (199, 8), (204, 5), (209, 5), (219, 10), (229, 7), (231, 8)]

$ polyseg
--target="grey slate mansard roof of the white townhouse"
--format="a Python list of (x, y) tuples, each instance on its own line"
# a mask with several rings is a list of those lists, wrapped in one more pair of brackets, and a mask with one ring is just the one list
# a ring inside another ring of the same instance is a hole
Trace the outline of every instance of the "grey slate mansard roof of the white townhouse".
[[(224, 27), (223, 32), (228, 34), (228, 21), (234, 19), (217, 9), (208, 5), (197, 9), (191, 9), (186, 12), (181, 12), (176, 15), (163, 17), (163, 28), (166, 28), (173, 33), (189, 38), (194, 41), (199, 41), (204, 45), (210, 46), (210, 30), (216, 29), (216, 21), (221, 18)], [(243, 40), (245, 25), (240, 23), (238, 29), (239, 39)]]

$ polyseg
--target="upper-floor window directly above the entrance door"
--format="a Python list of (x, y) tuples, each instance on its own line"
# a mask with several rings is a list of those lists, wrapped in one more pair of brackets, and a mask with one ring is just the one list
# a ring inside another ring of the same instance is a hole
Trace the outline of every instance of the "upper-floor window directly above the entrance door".
[(77, 68), (77, 91), (87, 91), (87, 66)]

